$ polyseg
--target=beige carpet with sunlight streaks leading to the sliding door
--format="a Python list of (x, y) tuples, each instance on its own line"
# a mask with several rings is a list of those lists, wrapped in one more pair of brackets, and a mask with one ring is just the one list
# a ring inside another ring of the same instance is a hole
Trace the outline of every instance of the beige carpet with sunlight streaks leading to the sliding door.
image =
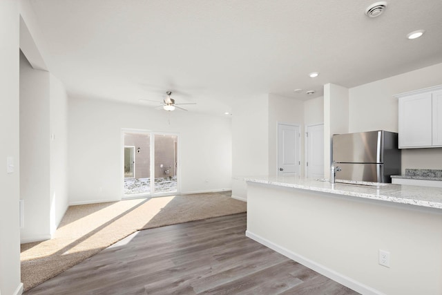
[(71, 206), (54, 238), (21, 245), (25, 291), (140, 229), (245, 212), (231, 192)]

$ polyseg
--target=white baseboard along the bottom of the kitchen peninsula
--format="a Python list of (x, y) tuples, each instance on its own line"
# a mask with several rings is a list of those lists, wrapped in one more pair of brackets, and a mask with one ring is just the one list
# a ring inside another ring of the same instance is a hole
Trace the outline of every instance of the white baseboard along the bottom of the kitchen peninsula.
[(372, 287), (364, 285), (363, 283), (360, 283), (357, 280), (349, 278), (348, 276), (344, 276), (343, 274), (339, 274), (338, 272), (335, 272), (333, 269), (329, 269), (324, 265), (320, 265), (319, 263), (316, 263), (313, 260), (310, 260), (309, 258), (306, 258), (302, 255), (296, 254), (293, 251), (286, 249), (285, 247), (280, 247), (279, 245), (276, 245), (275, 243), (270, 242), (265, 238), (262, 238), (256, 234), (251, 233), (250, 231), (246, 231), (246, 236), (251, 238), (252, 240), (256, 240), (256, 242), (259, 242), (260, 244), (265, 245), (266, 247), (269, 247), (270, 249), (278, 252), (279, 254), (282, 254), (287, 258), (296, 261), (297, 263), (309, 267), (309, 269), (313, 269), (315, 272), (318, 272), (323, 276), (327, 276), (327, 278), (335, 280), (341, 285), (345, 285), (346, 287), (353, 289), (356, 292), (359, 292), (361, 294), (370, 294), (370, 295), (383, 294), (382, 292), (379, 292), (378, 290), (373, 289)]

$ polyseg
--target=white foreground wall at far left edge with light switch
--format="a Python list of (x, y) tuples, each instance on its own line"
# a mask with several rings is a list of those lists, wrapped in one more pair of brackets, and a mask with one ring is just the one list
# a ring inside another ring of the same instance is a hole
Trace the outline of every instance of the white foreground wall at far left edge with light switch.
[[(19, 10), (0, 1), (0, 292), (21, 294), (19, 230)], [(15, 172), (6, 173), (6, 158)]]

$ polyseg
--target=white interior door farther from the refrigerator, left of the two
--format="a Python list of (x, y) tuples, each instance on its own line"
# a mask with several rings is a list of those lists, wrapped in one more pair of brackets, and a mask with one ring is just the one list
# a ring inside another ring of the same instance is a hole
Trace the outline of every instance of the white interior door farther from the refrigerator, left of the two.
[(278, 124), (278, 175), (300, 174), (300, 128)]

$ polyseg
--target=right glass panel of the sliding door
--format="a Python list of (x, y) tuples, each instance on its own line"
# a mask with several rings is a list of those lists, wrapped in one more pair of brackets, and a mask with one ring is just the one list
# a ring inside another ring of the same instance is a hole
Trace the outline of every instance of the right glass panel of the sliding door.
[(154, 193), (177, 191), (177, 135), (155, 134)]

